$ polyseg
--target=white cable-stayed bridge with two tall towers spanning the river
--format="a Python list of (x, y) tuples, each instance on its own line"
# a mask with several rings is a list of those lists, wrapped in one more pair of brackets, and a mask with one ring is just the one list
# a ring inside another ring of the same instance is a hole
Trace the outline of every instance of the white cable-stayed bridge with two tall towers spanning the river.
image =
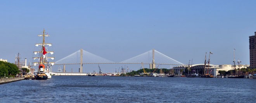
[(121, 62), (114, 62), (106, 58), (102, 58), (93, 53), (80, 49), (71, 55), (68, 55), (61, 60), (55, 62), (55, 65), (80, 65), (80, 73), (83, 71), (83, 64), (150, 64), (150, 68), (155, 68), (155, 65), (183, 65), (179, 61), (158, 52), (157, 50), (149, 50), (148, 52), (134, 56)]

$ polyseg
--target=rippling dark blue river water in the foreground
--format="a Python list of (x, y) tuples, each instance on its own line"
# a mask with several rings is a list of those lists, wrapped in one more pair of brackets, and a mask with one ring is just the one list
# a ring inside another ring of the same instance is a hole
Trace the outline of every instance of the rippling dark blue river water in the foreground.
[(0, 85), (0, 103), (255, 103), (256, 79), (52, 76)]

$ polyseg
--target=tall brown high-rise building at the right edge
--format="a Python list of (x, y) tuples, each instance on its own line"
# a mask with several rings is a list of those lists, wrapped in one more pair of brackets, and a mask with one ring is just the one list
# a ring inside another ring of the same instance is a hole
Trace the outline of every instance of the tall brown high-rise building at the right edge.
[(250, 68), (256, 67), (256, 32), (254, 32), (253, 36), (249, 37), (249, 49), (250, 49)]

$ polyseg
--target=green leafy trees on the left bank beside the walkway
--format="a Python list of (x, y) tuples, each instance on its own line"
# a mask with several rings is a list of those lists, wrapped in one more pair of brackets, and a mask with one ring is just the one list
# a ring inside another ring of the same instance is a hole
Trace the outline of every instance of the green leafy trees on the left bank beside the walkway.
[(0, 61), (0, 76), (16, 76), (19, 73), (19, 68), (9, 62)]

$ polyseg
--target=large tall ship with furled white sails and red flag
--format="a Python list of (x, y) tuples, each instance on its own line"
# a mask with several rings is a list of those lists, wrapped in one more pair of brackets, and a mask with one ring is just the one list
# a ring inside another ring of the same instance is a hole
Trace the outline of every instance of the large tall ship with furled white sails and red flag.
[(43, 37), (43, 42), (35, 44), (36, 47), (40, 47), (40, 51), (33, 52), (35, 55), (39, 53), (38, 57), (33, 57), (34, 60), (38, 59), (38, 62), (33, 63), (34, 66), (38, 66), (37, 74), (35, 75), (36, 80), (47, 80), (52, 78), (50, 75), (50, 68), (54, 65), (54, 62), (49, 62), (49, 59), (54, 60), (54, 57), (48, 57), (48, 53), (51, 55), (54, 52), (49, 52), (46, 46), (52, 46), (51, 43), (45, 43), (45, 37), (50, 37), (50, 35), (45, 35), (45, 29), (43, 29), (43, 35), (38, 35), (38, 37)]

